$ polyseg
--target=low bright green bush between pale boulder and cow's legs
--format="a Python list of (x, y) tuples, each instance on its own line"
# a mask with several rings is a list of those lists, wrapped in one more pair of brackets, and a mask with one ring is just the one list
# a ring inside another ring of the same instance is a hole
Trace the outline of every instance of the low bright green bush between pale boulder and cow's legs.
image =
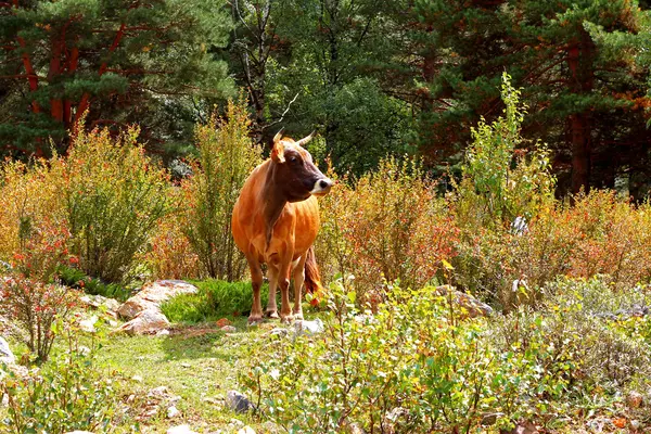
[[(196, 294), (181, 294), (161, 306), (171, 322), (212, 321), (251, 310), (253, 292), (250, 282), (206, 280), (194, 283), (199, 288)], [(260, 296), (266, 304), (269, 298), (267, 284), (263, 285)]]

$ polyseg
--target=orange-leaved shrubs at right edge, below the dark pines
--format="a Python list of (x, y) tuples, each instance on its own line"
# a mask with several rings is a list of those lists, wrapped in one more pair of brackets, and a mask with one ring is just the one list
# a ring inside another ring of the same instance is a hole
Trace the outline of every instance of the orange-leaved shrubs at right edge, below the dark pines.
[[(455, 278), (460, 285), (496, 298), (507, 309), (532, 304), (537, 290), (557, 276), (589, 279), (610, 276), (627, 290), (651, 279), (651, 213), (617, 200), (614, 192), (579, 195), (574, 206), (557, 203), (539, 209), (526, 231), (478, 228), (464, 231)], [(524, 293), (513, 292), (524, 280)]]

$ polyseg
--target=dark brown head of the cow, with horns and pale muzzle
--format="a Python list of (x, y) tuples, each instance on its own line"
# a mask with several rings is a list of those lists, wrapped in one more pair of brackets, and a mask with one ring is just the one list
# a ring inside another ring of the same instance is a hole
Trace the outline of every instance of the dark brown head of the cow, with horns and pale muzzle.
[(319, 170), (309, 152), (303, 148), (312, 137), (314, 132), (295, 142), (283, 138), (282, 130), (273, 137), (273, 181), (289, 202), (305, 201), (311, 194), (326, 195), (334, 183)]

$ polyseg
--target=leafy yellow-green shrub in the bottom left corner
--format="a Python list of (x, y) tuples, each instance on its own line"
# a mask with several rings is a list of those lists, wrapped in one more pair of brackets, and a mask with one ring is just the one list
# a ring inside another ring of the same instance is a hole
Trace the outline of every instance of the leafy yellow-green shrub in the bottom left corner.
[(0, 396), (8, 398), (8, 418), (0, 423), (7, 432), (110, 433), (122, 417), (114, 380), (95, 368), (91, 356), (81, 355), (76, 348), (27, 376), (0, 367)]

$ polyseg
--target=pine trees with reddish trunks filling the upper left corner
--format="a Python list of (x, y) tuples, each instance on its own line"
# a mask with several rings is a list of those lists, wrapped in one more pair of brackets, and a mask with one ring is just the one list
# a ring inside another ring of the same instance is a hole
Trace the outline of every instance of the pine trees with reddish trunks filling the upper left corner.
[[(230, 21), (208, 0), (10, 0), (0, 2), (0, 104), (4, 154), (60, 152), (87, 124), (143, 123), (156, 108), (231, 91), (209, 50), (227, 42)], [(152, 125), (153, 126), (153, 125)]]

